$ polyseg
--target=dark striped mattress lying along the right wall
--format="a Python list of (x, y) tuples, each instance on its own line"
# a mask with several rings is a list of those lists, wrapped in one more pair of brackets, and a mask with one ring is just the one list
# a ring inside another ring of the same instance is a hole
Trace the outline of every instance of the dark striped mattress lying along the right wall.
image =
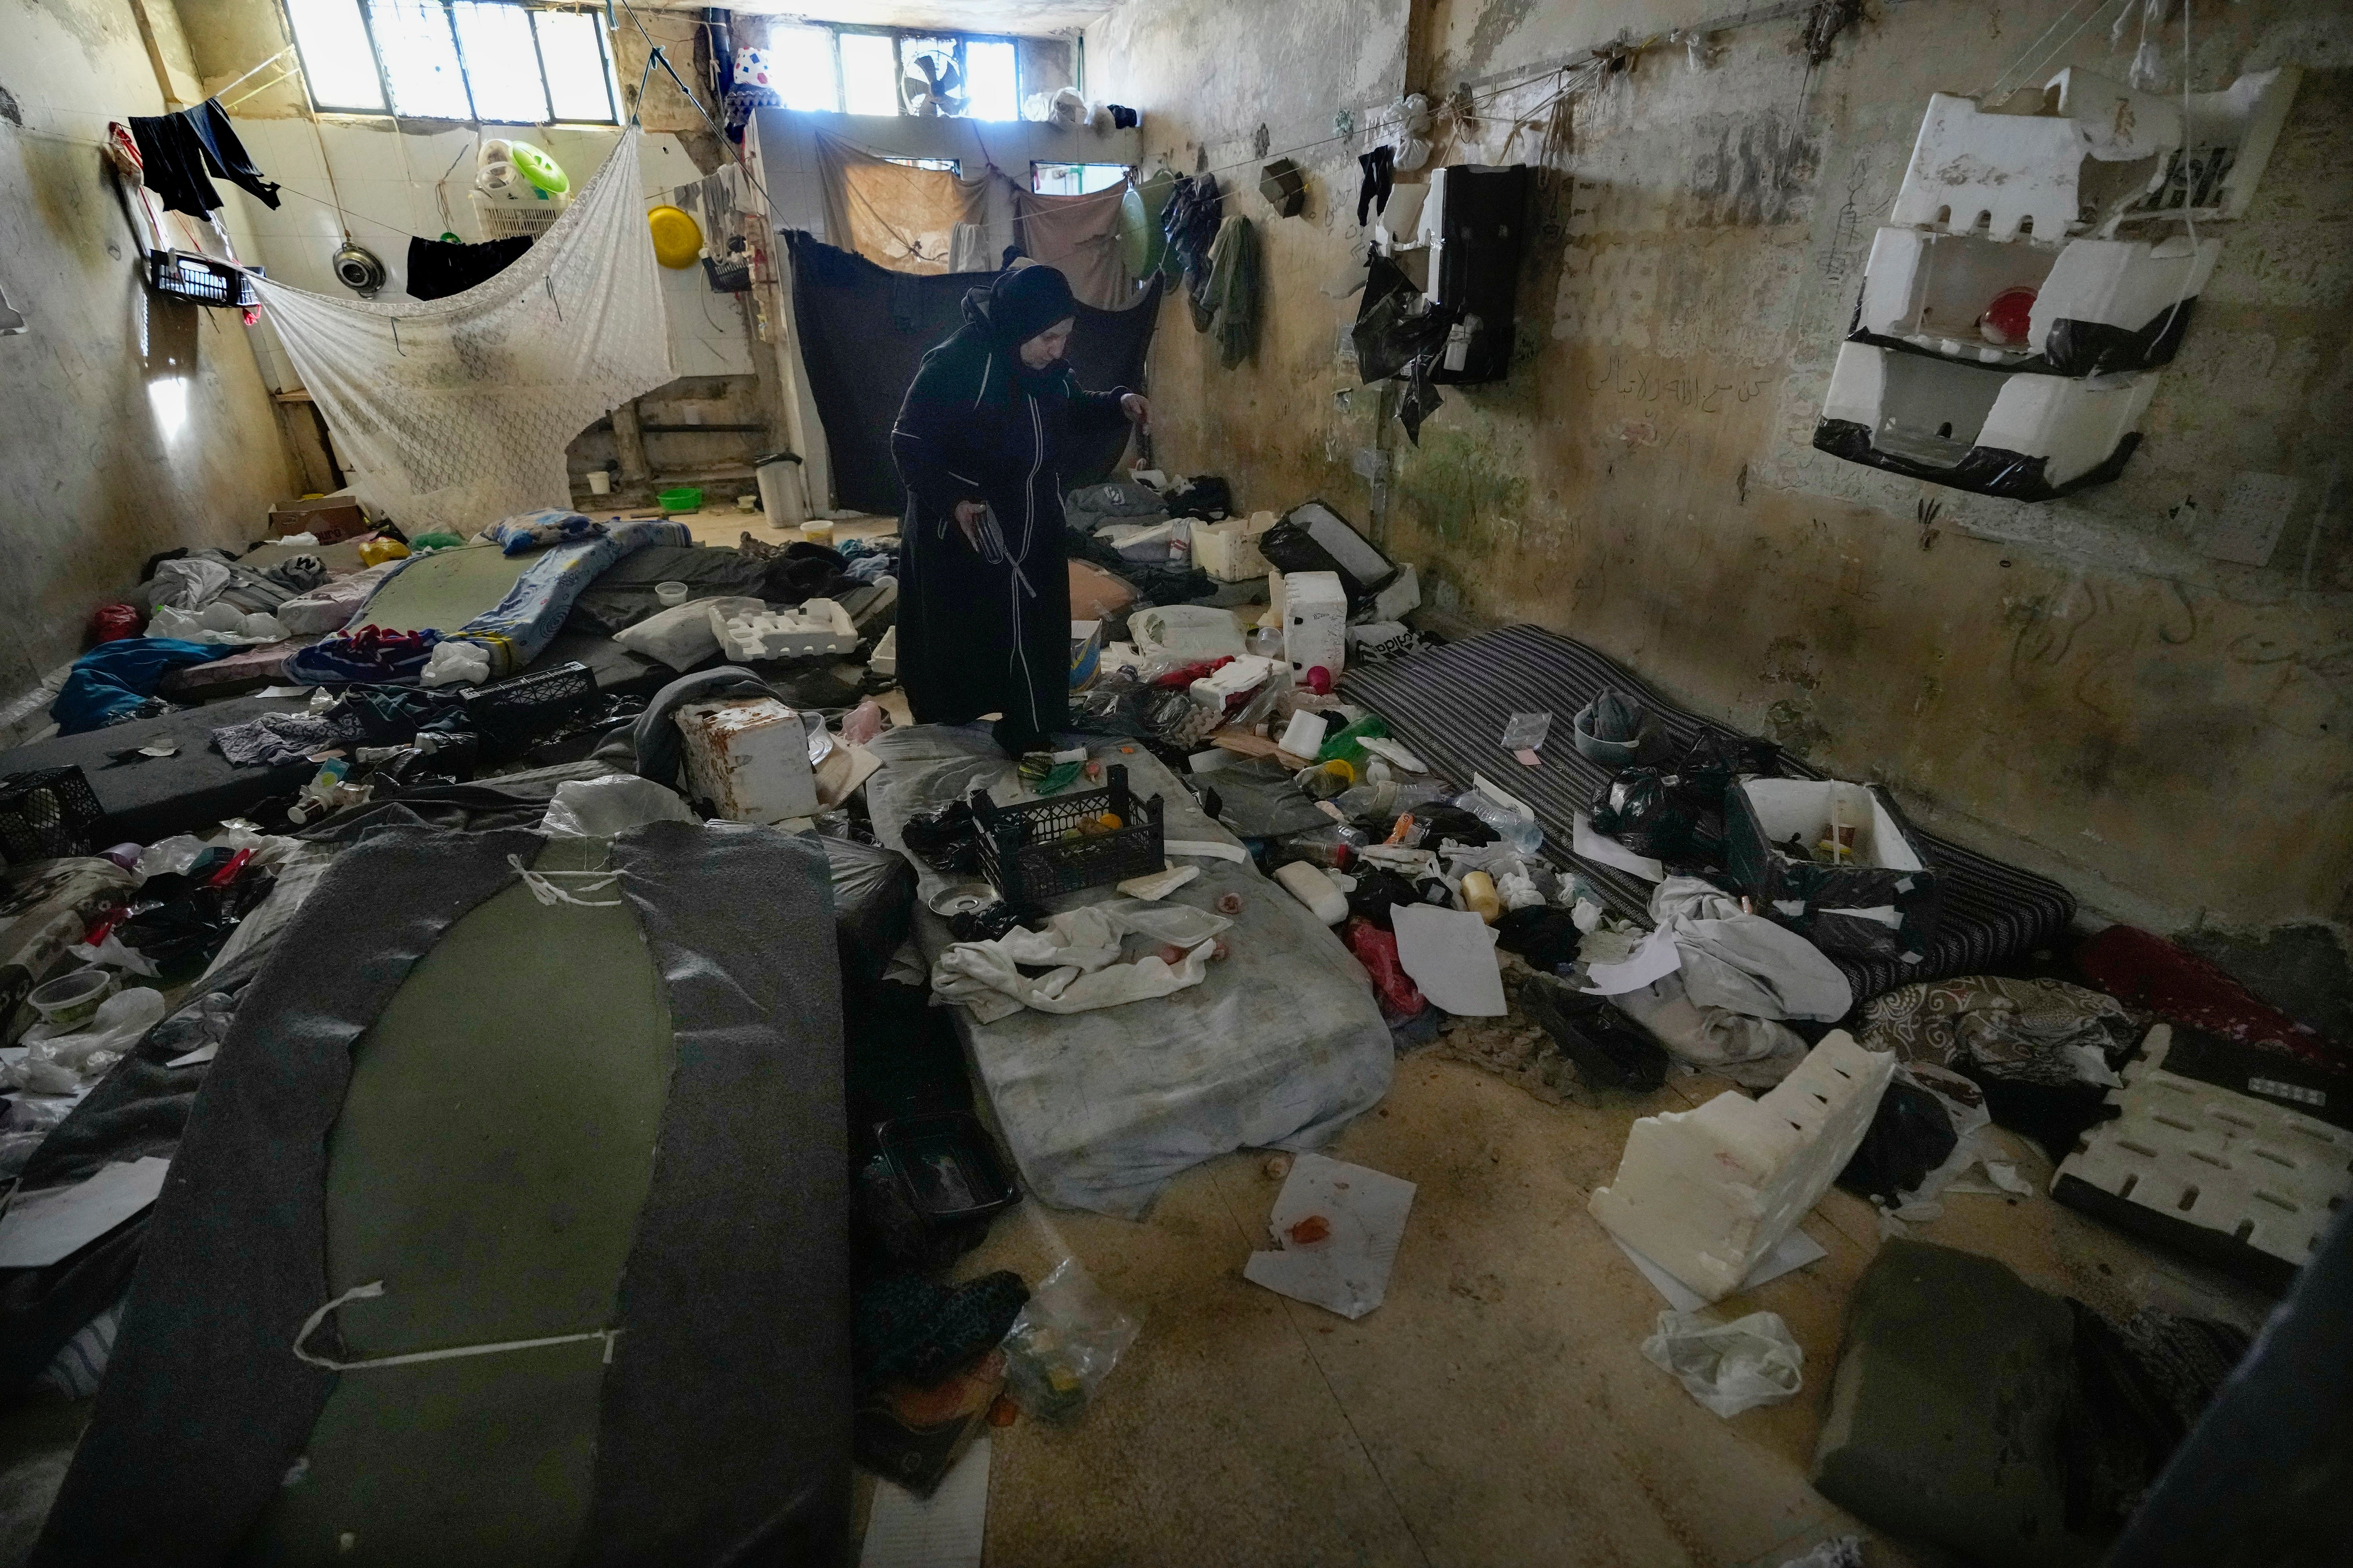
[[(1675, 708), (1607, 656), (1541, 625), (1508, 625), (1407, 658), (1358, 665), (1341, 677), (1339, 691), (1381, 715), (1391, 733), (1447, 778), (1468, 783), (1480, 771), (1525, 799), (1544, 823), (1546, 851), (1577, 860), (1569, 856), (1569, 816), (1586, 809), (1609, 769), (1569, 745), (1569, 719), (1605, 686), (1640, 698), (1678, 757), (1701, 729), (1725, 729)], [(1546, 710), (1553, 733), (1544, 766), (1525, 769), (1501, 748), (1504, 719)], [(1824, 778), (1788, 755), (1784, 769), (1793, 778)], [(1920, 964), (1833, 954), (1857, 1001), (1913, 980), (1979, 973), (2054, 940), (2075, 917), (2075, 896), (2057, 882), (1918, 830), (1915, 837), (1944, 877), (1937, 940)], [(1591, 860), (1577, 860), (1577, 870), (1609, 898), (1614, 912), (1647, 922), (1649, 882)]]

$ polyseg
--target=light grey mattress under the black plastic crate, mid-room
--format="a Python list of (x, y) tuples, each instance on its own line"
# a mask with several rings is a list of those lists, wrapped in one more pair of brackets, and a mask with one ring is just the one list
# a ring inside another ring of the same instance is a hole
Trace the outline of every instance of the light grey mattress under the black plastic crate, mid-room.
[[(1014, 764), (988, 726), (915, 724), (873, 743), (882, 771), (866, 783), (875, 837), (901, 846), (915, 811), (972, 788), (1019, 799)], [(1144, 748), (1096, 743), (1127, 766), (1129, 788), (1160, 795), (1172, 839), (1238, 839)], [(1179, 1171), (1240, 1147), (1315, 1147), (1388, 1093), (1395, 1046), (1365, 971), (1297, 898), (1252, 865), (1184, 858), (1202, 875), (1169, 896), (1212, 910), (1242, 896), (1226, 933), (1231, 957), (1195, 987), (1092, 1013), (1021, 1011), (974, 1025), (953, 1009), (995, 1126), (1031, 1192), (1047, 1204), (1141, 1215)], [(918, 865), (915, 945), (925, 966), (955, 938), (922, 905), (941, 886)], [(1052, 900), (1068, 910), (1111, 898), (1089, 889)]]

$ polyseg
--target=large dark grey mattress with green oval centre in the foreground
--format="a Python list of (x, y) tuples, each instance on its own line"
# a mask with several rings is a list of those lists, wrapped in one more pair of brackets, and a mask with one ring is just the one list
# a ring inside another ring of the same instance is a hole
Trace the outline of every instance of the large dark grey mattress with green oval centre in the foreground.
[[(616, 879), (541, 903), (513, 858)], [(33, 1561), (833, 1561), (826, 884), (734, 823), (336, 856), (198, 1091)]]

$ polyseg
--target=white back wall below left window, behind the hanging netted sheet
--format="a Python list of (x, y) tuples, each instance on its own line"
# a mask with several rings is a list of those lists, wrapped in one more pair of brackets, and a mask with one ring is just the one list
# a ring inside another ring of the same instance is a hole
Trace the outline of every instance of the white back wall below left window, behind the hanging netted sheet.
[[(605, 158), (621, 139), (616, 129), (520, 129), (525, 141), (546, 148), (572, 176), (574, 190), (605, 167)], [(275, 212), (235, 193), (242, 226), (252, 230), (252, 254), (278, 282), (332, 299), (351, 299), (332, 270), (332, 256), (344, 244), (344, 221), (348, 219), (351, 237), (376, 252), (391, 273), (391, 282), (376, 299), (407, 301), (412, 235), (433, 240), (454, 233), (466, 242), (485, 237), (473, 209), (475, 146), (482, 134), (471, 127), (393, 129), (391, 120), (332, 115), (315, 122), (238, 120), (238, 136), (254, 167), (285, 183)], [(668, 195), (673, 186), (701, 179), (701, 169), (668, 132), (645, 134), (638, 143), (638, 167), (647, 195)], [(334, 172), (332, 183), (329, 169)], [(732, 299), (711, 292), (701, 268), (664, 268), (661, 292), (668, 310), (671, 357), (680, 376), (753, 374), (744, 317)], [(285, 388), (299, 381), (275, 343), (264, 343), (261, 357), (273, 386)]]

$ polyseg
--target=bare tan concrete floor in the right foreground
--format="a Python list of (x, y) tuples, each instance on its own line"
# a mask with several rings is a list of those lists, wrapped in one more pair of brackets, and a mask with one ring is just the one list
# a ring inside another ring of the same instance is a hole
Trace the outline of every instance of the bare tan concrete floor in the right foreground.
[[(1788, 1321), (1805, 1347), (1791, 1403), (1720, 1420), (1638, 1349), (1666, 1302), (1586, 1197), (1635, 1117), (1722, 1088), (1678, 1074), (1546, 1105), (1435, 1051), (1400, 1060), (1391, 1098), (1329, 1150), (1419, 1185), (1388, 1298), (1355, 1324), (1242, 1279), (1280, 1187), (1264, 1154), (1186, 1173), (1144, 1222), (1002, 1220), (962, 1272), (1035, 1281), (1068, 1248), (1141, 1335), (1080, 1425), (993, 1436), (986, 1561), (1774, 1568), (1847, 1533), (1873, 1568), (1951, 1561), (1805, 1483), (1845, 1300), (1880, 1244), (1868, 1204), (1833, 1190), (1805, 1220), (1828, 1258), (1715, 1309)], [(2049, 1164), (2019, 1154), (2040, 1192)], [(2261, 1312), (2040, 1194), (1951, 1197), (1911, 1234), (2111, 1314)]]

